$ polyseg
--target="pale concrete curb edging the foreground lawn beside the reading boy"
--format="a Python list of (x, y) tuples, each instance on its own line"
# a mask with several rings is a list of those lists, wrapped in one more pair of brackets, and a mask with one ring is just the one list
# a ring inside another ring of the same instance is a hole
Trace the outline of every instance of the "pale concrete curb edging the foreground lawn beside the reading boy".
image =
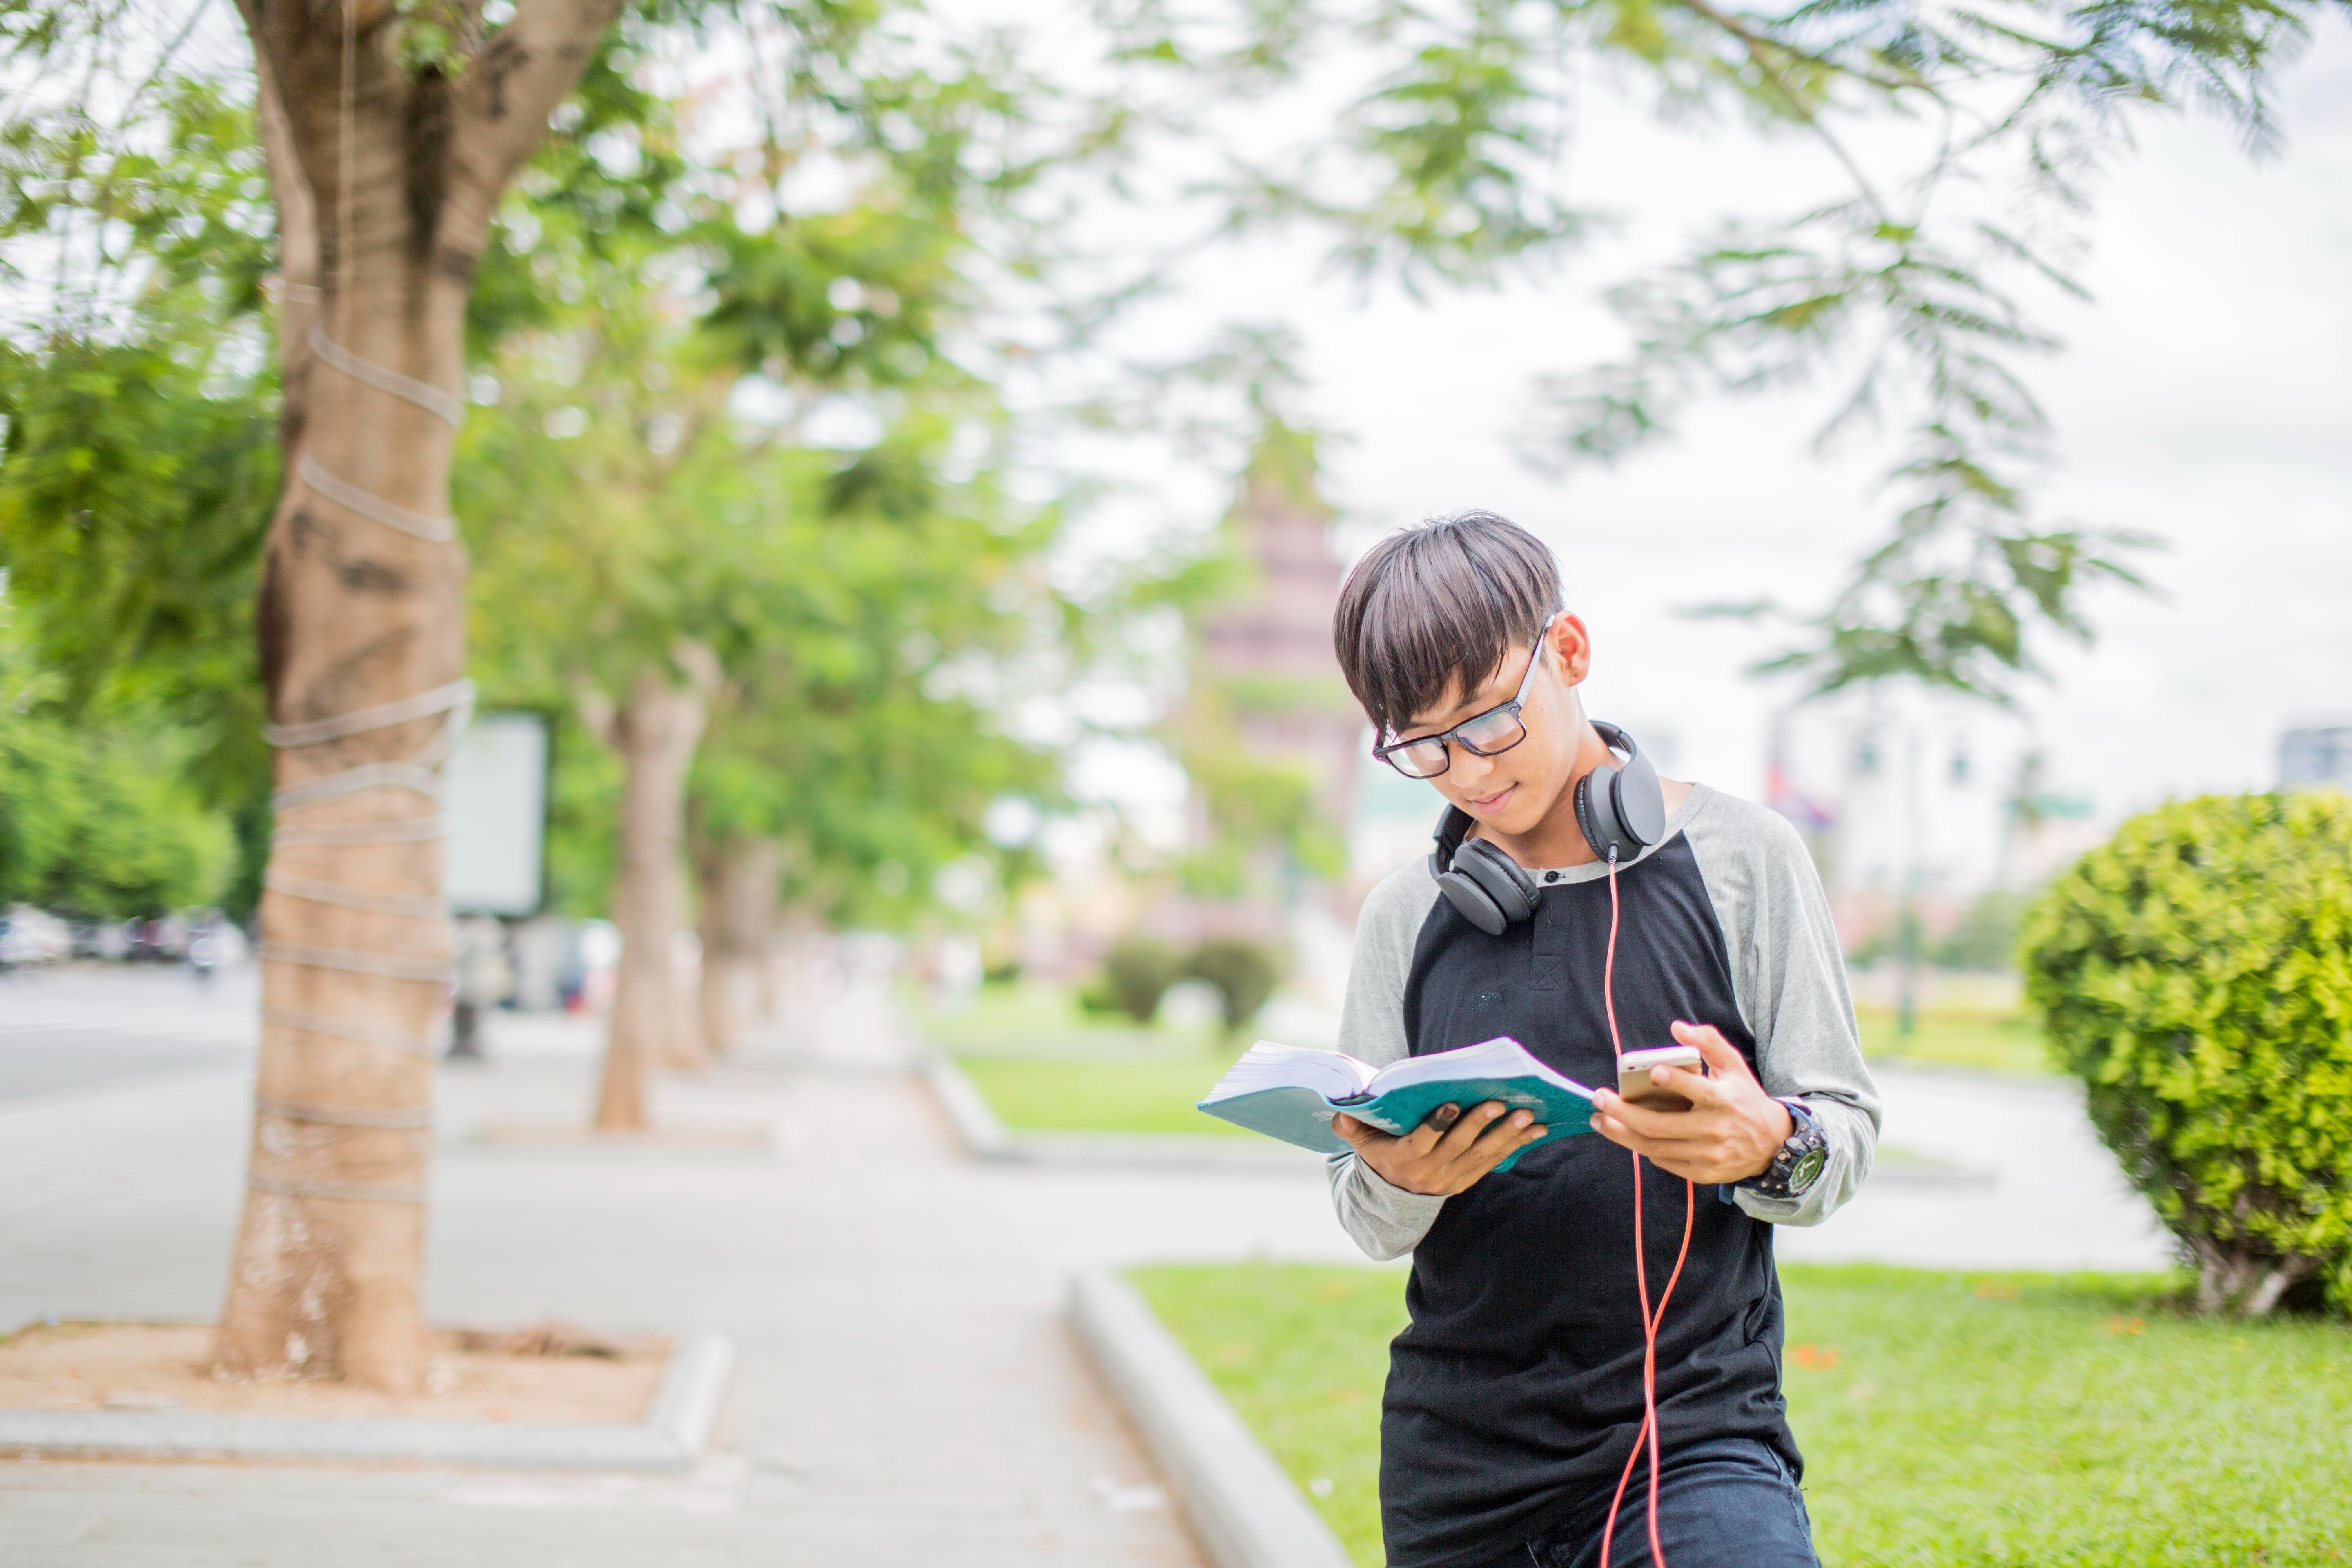
[(1131, 1284), (1080, 1274), (1070, 1326), (1216, 1568), (1352, 1568), (1331, 1526)]

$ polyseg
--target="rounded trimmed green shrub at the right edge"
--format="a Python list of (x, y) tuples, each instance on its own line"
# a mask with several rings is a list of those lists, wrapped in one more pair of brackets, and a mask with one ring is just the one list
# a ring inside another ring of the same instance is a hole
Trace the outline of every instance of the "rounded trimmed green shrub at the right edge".
[(2352, 797), (2131, 818), (2032, 907), (2023, 969), (2199, 1302), (2352, 1312)]

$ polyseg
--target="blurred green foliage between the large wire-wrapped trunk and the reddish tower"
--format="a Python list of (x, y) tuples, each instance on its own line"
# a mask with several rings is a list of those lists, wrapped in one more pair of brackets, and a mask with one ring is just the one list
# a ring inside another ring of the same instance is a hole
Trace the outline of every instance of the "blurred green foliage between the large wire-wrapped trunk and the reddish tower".
[[(1051, 646), (1068, 607), (1042, 576), (1058, 517), (1007, 496), (1004, 416), (946, 343), (990, 200), (957, 148), (1004, 106), (927, 73), (866, 89), (898, 115), (891, 158), (837, 207), (769, 212), (680, 155), (673, 106), (614, 42), (496, 226), (477, 313), (496, 400), (456, 487), (499, 701), (569, 705), (680, 637), (708, 646), (724, 682), (696, 837), (781, 839), (795, 903), (898, 924), (934, 870), (993, 853), (993, 799), (1056, 799), (993, 670)], [(788, 162), (774, 141), (746, 158)], [(804, 437), (844, 414), (875, 435)], [(562, 806), (560, 827), (579, 898), (609, 853)]]

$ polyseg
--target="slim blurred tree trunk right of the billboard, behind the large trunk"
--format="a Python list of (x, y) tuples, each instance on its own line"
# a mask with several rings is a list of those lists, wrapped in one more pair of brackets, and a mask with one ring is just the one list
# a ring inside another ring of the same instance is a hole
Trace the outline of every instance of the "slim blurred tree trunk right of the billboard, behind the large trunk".
[(602, 726), (621, 752), (621, 870), (614, 884), (614, 924), (621, 929), (621, 969), (614, 976), (612, 1020), (604, 1034), (604, 1081), (595, 1124), (609, 1131), (644, 1128), (644, 1084), (675, 1051), (680, 994), (675, 938), (684, 929), (680, 846), (687, 820), (687, 769), (703, 738), (703, 717), (717, 665), (699, 646), (677, 651), (687, 679), (640, 670), (628, 701)]

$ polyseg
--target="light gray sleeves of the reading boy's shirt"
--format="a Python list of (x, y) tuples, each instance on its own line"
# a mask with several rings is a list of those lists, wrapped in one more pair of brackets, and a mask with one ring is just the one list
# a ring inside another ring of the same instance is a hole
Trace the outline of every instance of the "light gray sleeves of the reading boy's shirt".
[[(1820, 877), (1783, 818), (1705, 785), (1691, 790), (1668, 825), (1689, 837), (1708, 884), (1764, 1091), (1802, 1098), (1828, 1140), (1830, 1164), (1804, 1197), (1733, 1190), (1733, 1201), (1759, 1220), (1818, 1225), (1870, 1175), (1879, 1131), (1879, 1095), (1863, 1067)], [(1338, 1048), (1374, 1067), (1406, 1056), (1404, 980), (1435, 898), (1428, 865), (1414, 860), (1374, 886), (1357, 917)], [(1414, 1251), (1444, 1206), (1439, 1197), (1392, 1187), (1352, 1152), (1334, 1154), (1329, 1175), (1341, 1227), (1371, 1258)]]

